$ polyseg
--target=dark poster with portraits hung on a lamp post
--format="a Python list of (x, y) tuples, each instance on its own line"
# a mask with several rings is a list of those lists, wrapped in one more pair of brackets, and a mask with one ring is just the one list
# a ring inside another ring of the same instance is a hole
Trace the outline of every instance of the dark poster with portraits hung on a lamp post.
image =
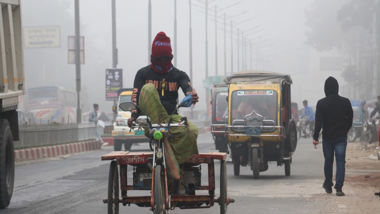
[(106, 101), (117, 101), (117, 91), (123, 88), (123, 69), (106, 69)]

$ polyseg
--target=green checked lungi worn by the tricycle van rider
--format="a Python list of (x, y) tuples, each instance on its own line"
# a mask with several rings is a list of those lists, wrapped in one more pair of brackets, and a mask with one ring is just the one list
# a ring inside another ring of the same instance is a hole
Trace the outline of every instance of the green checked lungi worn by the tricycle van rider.
[[(156, 87), (152, 83), (145, 84), (139, 95), (139, 107), (142, 112), (145, 112), (154, 123), (168, 123), (170, 115), (161, 105), (160, 96)], [(141, 114), (143, 114), (141, 112)], [(180, 123), (182, 116), (173, 115), (172, 123)], [(198, 155), (198, 145), (196, 139), (198, 137), (198, 128), (194, 123), (187, 121), (188, 126), (176, 126), (170, 128), (169, 144), (173, 148), (174, 156), (179, 164), (191, 155)], [(145, 130), (145, 135), (149, 137), (149, 129)]]

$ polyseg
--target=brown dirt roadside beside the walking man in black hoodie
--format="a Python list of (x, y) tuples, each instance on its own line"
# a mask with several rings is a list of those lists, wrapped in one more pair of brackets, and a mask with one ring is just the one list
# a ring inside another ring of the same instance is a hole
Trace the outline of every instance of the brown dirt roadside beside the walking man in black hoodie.
[(346, 196), (338, 197), (335, 191), (333, 194), (315, 195), (313, 200), (325, 204), (320, 213), (377, 214), (380, 212), (380, 197), (374, 195), (380, 191), (380, 161), (377, 160), (377, 152), (378, 148), (375, 145), (373, 148), (363, 149), (359, 142), (348, 143), (343, 187)]

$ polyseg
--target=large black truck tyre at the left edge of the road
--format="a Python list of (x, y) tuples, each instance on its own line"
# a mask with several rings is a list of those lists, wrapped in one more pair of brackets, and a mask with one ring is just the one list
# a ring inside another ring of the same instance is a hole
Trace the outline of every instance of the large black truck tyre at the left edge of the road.
[(12, 131), (5, 119), (0, 119), (0, 209), (11, 201), (14, 185), (14, 145)]

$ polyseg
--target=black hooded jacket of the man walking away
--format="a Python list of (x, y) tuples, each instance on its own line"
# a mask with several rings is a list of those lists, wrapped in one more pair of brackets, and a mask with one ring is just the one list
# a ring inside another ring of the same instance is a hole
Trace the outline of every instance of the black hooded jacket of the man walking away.
[(325, 81), (326, 97), (317, 102), (313, 139), (318, 141), (321, 128), (322, 138), (347, 137), (352, 126), (353, 110), (351, 102), (338, 95), (339, 85), (334, 77)]

